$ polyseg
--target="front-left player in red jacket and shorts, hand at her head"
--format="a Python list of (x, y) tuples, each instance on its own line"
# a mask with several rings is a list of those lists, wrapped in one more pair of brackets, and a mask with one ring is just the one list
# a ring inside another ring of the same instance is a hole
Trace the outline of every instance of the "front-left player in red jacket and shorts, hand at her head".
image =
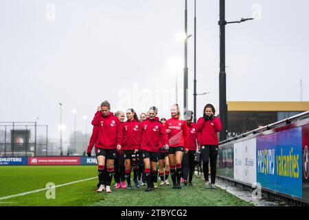
[(111, 105), (108, 101), (101, 104), (101, 110), (95, 113), (91, 124), (98, 126), (98, 137), (95, 142), (97, 146), (96, 156), (98, 159), (98, 175), (100, 187), (98, 192), (104, 190), (104, 168), (105, 158), (107, 166), (107, 177), (105, 181), (106, 192), (111, 192), (111, 179), (114, 174), (114, 159), (117, 150), (121, 150), (122, 132), (121, 124), (117, 117), (110, 112)]

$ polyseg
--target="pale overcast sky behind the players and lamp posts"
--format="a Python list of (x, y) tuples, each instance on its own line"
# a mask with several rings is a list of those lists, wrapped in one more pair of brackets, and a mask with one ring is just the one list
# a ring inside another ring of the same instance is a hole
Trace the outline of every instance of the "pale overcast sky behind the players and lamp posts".
[[(84, 131), (96, 107), (138, 113), (150, 105), (169, 117), (175, 102), (175, 72), (168, 61), (183, 58), (185, 0), (1, 0), (0, 121), (49, 125), (58, 138)], [(258, 16), (258, 21), (227, 25), (228, 101), (309, 101), (309, 1), (227, 0), (227, 21)], [(197, 115), (208, 102), (218, 110), (219, 3), (197, 0)], [(188, 1), (188, 33), (194, 32), (194, 1)], [(194, 39), (188, 41), (189, 87), (193, 91)], [(182, 68), (181, 66), (180, 68)], [(179, 89), (183, 71), (178, 71)], [(193, 92), (189, 107), (193, 109)], [(183, 93), (179, 91), (182, 105)]]

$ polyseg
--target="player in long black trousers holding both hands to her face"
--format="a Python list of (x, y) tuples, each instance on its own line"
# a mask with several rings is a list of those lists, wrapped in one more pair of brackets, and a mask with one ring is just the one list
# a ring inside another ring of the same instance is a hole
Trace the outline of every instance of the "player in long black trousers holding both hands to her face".
[[(222, 129), (220, 119), (215, 117), (216, 110), (212, 104), (206, 104), (203, 111), (203, 117), (198, 118), (196, 131), (201, 132), (200, 144), (201, 155), (203, 159), (203, 173), (205, 177), (206, 188), (216, 188), (216, 164), (218, 155), (218, 132)], [(210, 158), (210, 159), (209, 159)], [(208, 179), (208, 164), (210, 160), (211, 183)]]

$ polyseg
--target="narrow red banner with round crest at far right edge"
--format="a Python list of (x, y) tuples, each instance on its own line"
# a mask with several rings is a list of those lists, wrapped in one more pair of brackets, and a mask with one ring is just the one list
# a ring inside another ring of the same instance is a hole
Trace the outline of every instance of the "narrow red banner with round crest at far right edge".
[(309, 199), (309, 124), (301, 127), (303, 142), (303, 198)]

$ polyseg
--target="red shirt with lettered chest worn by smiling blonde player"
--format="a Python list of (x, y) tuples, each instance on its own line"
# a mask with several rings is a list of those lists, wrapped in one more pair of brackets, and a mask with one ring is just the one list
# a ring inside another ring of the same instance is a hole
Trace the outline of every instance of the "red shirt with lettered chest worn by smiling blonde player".
[(168, 134), (170, 147), (183, 146), (188, 148), (187, 143), (187, 122), (176, 118), (170, 118), (165, 122), (165, 129), (170, 129)]

